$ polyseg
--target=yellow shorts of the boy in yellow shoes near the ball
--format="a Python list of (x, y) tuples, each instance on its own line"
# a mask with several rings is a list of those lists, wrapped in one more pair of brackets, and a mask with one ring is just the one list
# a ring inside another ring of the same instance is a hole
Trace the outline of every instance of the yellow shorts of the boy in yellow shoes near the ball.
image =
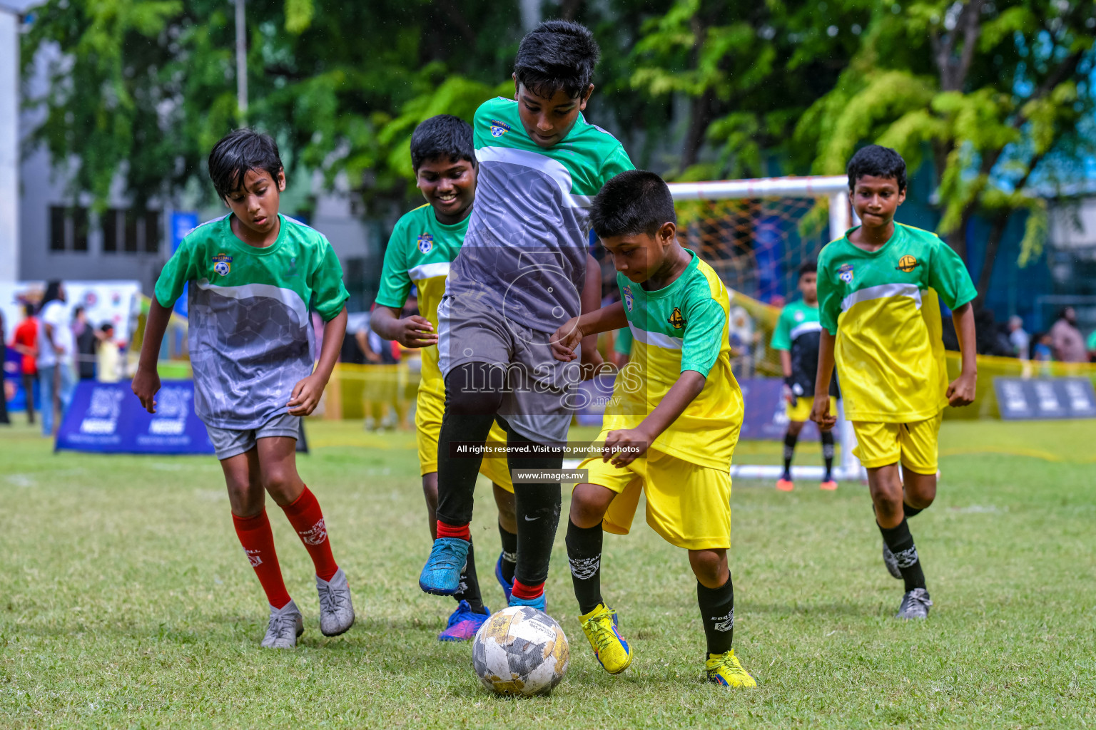
[[(604, 441), (603, 431), (598, 441)], [(647, 494), (647, 524), (671, 545), (689, 551), (731, 546), (731, 475), (717, 468), (648, 451), (624, 468), (587, 459), (579, 468), (590, 470), (590, 484), (617, 496), (605, 511), (602, 528), (627, 535)]]

